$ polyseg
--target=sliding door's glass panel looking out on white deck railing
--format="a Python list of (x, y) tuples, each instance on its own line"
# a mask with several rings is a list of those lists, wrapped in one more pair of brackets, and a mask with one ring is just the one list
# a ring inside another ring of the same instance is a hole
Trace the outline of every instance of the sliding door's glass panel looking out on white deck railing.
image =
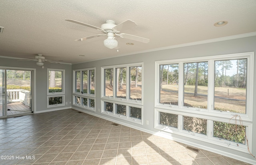
[(32, 113), (32, 71), (6, 70), (7, 116)]

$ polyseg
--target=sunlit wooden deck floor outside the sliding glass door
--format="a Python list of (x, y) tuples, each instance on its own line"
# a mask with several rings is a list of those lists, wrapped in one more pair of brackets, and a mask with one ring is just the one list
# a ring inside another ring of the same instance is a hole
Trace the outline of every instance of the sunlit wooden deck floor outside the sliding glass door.
[[(3, 114), (3, 109), (2, 105), (0, 105), (0, 117)], [(23, 113), (31, 113), (31, 109), (29, 106), (24, 105), (21, 102), (13, 102), (13, 103), (8, 103), (7, 104), (7, 115), (18, 115), (18, 114), (23, 114)]]

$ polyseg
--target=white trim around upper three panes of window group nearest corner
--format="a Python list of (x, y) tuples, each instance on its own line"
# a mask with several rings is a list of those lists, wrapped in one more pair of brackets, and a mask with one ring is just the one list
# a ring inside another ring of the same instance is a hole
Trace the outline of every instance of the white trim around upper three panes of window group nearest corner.
[[(83, 84), (82, 82), (82, 72), (83, 71), (87, 71), (88, 75), (89, 75), (89, 72), (94, 70), (94, 83), (96, 84), (96, 69), (95, 68), (84, 68), (84, 69), (78, 69), (78, 70), (73, 70), (73, 94), (74, 95), (80, 95), (81, 97), (96, 97), (95, 94), (96, 94), (96, 88), (94, 89), (94, 94), (90, 94), (90, 93), (81, 93), (81, 89), (80, 89), (80, 92), (76, 92), (76, 72), (80, 72), (80, 75), (81, 75), (81, 79), (80, 79), (80, 86), (81, 84)], [(87, 78), (88, 80), (88, 83), (87, 83), (87, 91), (88, 89), (90, 89), (90, 83), (89, 83), (89, 80), (90, 78), (88, 77)]]

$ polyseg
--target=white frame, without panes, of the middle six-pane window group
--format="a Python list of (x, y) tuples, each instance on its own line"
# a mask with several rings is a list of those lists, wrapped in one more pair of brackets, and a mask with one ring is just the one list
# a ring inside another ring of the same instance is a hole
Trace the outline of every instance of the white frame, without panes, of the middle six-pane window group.
[[(131, 67), (141, 67), (141, 79), (142, 79), (142, 87), (141, 87), (141, 100), (130, 99), (130, 68)], [(126, 68), (126, 98), (120, 98), (116, 96), (116, 87), (117, 85), (117, 77), (116, 77), (116, 69), (117, 68)], [(105, 70), (113, 69), (113, 97), (105, 95)], [(122, 65), (114, 65), (114, 66), (103, 66), (101, 67), (101, 113), (105, 115), (110, 115), (116, 118), (124, 119), (126, 121), (131, 121), (138, 124), (143, 124), (143, 63), (133, 63), (133, 64), (122, 64)], [(113, 104), (113, 112), (105, 111), (104, 102)], [(126, 116), (120, 115), (116, 113), (116, 104), (126, 105)], [(135, 117), (130, 117), (130, 108), (136, 107), (141, 109), (141, 119), (137, 119)]]

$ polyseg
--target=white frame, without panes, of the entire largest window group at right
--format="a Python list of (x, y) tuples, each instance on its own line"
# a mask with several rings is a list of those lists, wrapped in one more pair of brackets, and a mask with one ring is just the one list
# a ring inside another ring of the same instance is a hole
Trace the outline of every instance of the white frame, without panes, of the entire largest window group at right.
[[(237, 60), (247, 59), (247, 75), (246, 75), (246, 113), (234, 113), (227, 111), (216, 111), (213, 109), (214, 104), (214, 61), (219, 60)], [(195, 107), (182, 106), (183, 93), (184, 93), (184, 63), (191, 62), (208, 62), (208, 103), (207, 109), (198, 109)], [(178, 105), (167, 105), (159, 103), (160, 101), (160, 65), (165, 64), (178, 64), (179, 65), (179, 77), (178, 81), (182, 82), (178, 85)], [(222, 147), (227, 147), (237, 151), (248, 153), (248, 147), (252, 148), (252, 122), (253, 122), (253, 79), (254, 79), (254, 52), (227, 54), (218, 56), (205, 56), (199, 58), (186, 58), (176, 60), (164, 60), (155, 62), (155, 122), (154, 128), (165, 131), (168, 133), (175, 133), (181, 136), (190, 137), (207, 143), (216, 144)], [(250, 88), (250, 90), (249, 90)], [(178, 129), (159, 124), (159, 113), (171, 113), (178, 115)], [(192, 133), (191, 131), (183, 130), (183, 116), (196, 117), (207, 120), (207, 135), (199, 133)], [(235, 119), (236, 118), (236, 119)], [(238, 119), (239, 118), (239, 119)], [(232, 123), (246, 127), (245, 135), (248, 138), (248, 142), (245, 144), (237, 145), (237, 143), (225, 139), (218, 139), (213, 137), (213, 122), (220, 121), (225, 123)]]

